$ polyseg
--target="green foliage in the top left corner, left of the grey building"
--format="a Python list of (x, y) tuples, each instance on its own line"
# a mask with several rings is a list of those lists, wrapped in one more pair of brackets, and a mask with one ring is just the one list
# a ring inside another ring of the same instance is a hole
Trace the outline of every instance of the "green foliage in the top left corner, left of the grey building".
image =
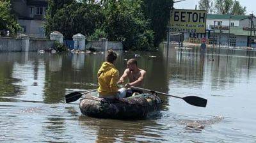
[(11, 3), (10, 0), (4, 0), (0, 3), (0, 30), (7, 29), (11, 34), (20, 31), (19, 26), (15, 16), (11, 14)]

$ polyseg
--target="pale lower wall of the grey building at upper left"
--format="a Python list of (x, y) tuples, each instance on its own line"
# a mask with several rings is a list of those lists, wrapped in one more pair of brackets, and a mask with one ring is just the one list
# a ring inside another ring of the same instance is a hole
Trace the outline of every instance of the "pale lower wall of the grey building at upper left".
[(42, 20), (18, 20), (20, 26), (24, 27), (24, 33), (33, 38), (45, 38), (44, 21)]

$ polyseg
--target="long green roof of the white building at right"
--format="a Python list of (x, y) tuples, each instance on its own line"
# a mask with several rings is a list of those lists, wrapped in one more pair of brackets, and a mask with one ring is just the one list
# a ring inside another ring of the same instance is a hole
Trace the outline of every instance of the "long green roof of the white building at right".
[(213, 15), (213, 14), (207, 14), (207, 19), (230, 19), (232, 20), (243, 20), (248, 19), (250, 15)]

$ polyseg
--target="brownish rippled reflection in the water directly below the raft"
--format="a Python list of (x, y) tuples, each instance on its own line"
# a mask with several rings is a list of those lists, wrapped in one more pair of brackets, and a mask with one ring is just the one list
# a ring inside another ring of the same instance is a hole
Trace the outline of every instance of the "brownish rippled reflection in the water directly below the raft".
[(167, 141), (161, 139), (161, 133), (154, 132), (162, 128), (162, 125), (157, 124), (154, 120), (94, 120), (91, 117), (80, 116), (79, 124), (84, 130), (96, 130), (97, 139), (95, 142), (136, 142), (138, 140), (144, 140), (145, 142), (154, 142), (154, 140), (158, 142)]

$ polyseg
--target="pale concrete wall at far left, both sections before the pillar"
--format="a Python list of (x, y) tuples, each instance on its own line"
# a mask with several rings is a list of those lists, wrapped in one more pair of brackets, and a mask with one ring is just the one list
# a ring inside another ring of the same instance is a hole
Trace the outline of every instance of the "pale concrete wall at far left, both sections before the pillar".
[(28, 46), (29, 52), (49, 50), (49, 48), (54, 46), (54, 41), (46, 39), (29, 39), (28, 43), (26, 43), (22, 38), (0, 37), (0, 52), (22, 52), (25, 51), (26, 46)]

